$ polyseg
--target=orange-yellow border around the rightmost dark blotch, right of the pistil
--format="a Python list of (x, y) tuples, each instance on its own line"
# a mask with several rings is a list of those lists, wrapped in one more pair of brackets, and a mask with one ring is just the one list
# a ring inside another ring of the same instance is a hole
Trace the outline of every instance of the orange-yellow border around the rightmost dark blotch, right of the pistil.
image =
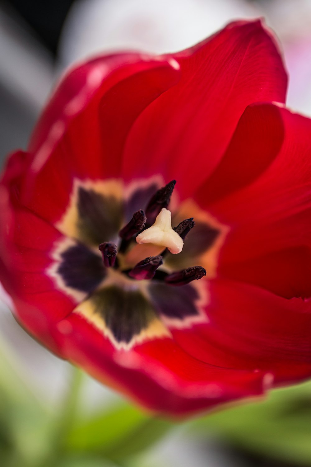
[[(185, 258), (186, 263), (180, 264), (180, 269), (200, 264), (200, 266), (203, 266), (203, 268), (206, 269), (206, 277), (208, 279), (212, 279), (216, 276), (219, 252), (230, 229), (228, 226), (221, 224), (207, 211), (201, 209), (193, 199), (186, 199), (180, 204), (178, 212), (173, 217), (173, 226), (178, 226), (182, 220), (188, 219), (190, 217), (193, 217), (195, 222), (202, 222), (208, 226), (211, 226), (212, 228), (217, 229), (219, 231), (219, 235), (215, 239), (213, 246), (208, 248), (205, 253), (193, 258), (189, 258), (187, 256)], [(187, 241), (187, 238), (185, 241)], [(179, 256), (173, 257), (173, 259), (179, 260)], [(169, 266), (171, 266), (171, 264)]]

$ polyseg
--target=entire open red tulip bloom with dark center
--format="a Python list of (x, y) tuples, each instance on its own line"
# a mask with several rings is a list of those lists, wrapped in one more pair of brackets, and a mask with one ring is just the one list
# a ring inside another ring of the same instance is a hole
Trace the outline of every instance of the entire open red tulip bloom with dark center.
[(260, 21), (76, 64), (0, 193), (0, 281), (56, 355), (186, 416), (311, 376), (311, 120)]

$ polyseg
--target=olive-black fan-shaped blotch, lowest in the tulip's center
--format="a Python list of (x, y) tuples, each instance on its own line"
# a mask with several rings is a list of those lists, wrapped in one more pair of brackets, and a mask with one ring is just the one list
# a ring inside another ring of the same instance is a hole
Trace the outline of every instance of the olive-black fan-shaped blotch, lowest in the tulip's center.
[(157, 318), (152, 304), (139, 290), (106, 287), (93, 294), (91, 300), (95, 313), (101, 315), (119, 343), (128, 344)]

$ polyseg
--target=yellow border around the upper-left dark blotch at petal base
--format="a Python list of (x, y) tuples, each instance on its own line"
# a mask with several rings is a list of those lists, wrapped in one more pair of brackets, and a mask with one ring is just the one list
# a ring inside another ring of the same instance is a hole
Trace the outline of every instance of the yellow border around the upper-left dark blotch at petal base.
[[(123, 202), (123, 182), (117, 178), (110, 178), (105, 181), (102, 180), (78, 180), (76, 179), (73, 184), (73, 191), (70, 195), (69, 205), (62, 219), (56, 223), (56, 228), (69, 237), (80, 239), (78, 224), (78, 209), (77, 198), (78, 189), (82, 187), (85, 190), (93, 190), (96, 193), (106, 196), (114, 197), (120, 204)], [(81, 240), (81, 239), (80, 239)]]

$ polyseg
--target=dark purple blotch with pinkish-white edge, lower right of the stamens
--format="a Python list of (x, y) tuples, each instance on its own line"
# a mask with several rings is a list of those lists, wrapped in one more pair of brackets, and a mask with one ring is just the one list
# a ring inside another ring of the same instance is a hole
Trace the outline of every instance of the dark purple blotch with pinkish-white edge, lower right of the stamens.
[(195, 300), (199, 298), (199, 295), (191, 285), (173, 288), (164, 283), (151, 283), (148, 290), (152, 303), (160, 315), (182, 320), (187, 316), (199, 314), (195, 306)]

